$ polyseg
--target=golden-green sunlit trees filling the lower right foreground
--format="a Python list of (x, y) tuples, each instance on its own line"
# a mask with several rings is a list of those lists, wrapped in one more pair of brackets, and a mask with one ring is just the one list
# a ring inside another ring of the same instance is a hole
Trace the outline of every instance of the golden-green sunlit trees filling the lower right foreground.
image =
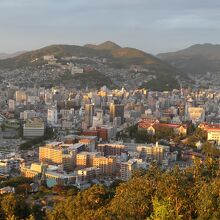
[[(58, 202), (48, 213), (56, 219), (219, 219), (219, 161), (180, 170), (161, 171), (155, 165), (128, 182), (109, 189), (94, 185)], [(112, 195), (113, 193), (113, 195)]]

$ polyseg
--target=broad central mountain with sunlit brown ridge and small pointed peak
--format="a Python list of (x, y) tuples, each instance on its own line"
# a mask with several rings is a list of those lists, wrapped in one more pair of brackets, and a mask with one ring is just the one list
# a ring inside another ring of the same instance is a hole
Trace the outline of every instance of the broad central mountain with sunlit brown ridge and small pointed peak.
[[(99, 45), (47, 46), (13, 58), (0, 60), (0, 69), (13, 70), (15, 68), (40, 67), (47, 63), (43, 58), (45, 55), (54, 55), (58, 60), (57, 62), (61, 63), (63, 63), (61, 57), (87, 57), (72, 62), (79, 63), (79, 65), (92, 65), (98, 71), (98, 78), (101, 80), (97, 83), (98, 85), (104, 83), (105, 80), (102, 82), (102, 79), (108, 77), (108, 82), (114, 82), (119, 87), (126, 85), (128, 88), (146, 87), (155, 90), (171, 90), (179, 87), (178, 77), (185, 77), (181, 71), (151, 54), (135, 48), (122, 48), (111, 41)], [(105, 75), (105, 77), (100, 74)], [(83, 75), (77, 77), (79, 80), (79, 78), (83, 78)], [(91, 83), (91, 85), (94, 85), (94, 83)]]

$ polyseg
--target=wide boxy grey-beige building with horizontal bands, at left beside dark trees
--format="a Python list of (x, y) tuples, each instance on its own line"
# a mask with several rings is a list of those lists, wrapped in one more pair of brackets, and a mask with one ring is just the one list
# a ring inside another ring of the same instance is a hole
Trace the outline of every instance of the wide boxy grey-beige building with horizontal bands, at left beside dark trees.
[(44, 122), (40, 118), (29, 119), (23, 125), (23, 136), (25, 138), (43, 137), (44, 131)]

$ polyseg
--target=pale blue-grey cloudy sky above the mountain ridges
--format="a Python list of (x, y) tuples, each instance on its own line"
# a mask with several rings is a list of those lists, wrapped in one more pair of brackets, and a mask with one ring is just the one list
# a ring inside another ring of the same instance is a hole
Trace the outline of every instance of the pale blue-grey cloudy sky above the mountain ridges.
[(220, 1), (0, 0), (0, 53), (107, 40), (152, 54), (220, 44)]

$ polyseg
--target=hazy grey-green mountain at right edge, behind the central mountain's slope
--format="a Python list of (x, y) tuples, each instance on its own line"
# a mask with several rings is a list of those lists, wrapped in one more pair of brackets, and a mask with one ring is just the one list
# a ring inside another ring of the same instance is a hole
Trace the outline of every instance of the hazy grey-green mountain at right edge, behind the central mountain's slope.
[(196, 44), (177, 52), (158, 54), (158, 57), (190, 74), (220, 70), (220, 45)]

